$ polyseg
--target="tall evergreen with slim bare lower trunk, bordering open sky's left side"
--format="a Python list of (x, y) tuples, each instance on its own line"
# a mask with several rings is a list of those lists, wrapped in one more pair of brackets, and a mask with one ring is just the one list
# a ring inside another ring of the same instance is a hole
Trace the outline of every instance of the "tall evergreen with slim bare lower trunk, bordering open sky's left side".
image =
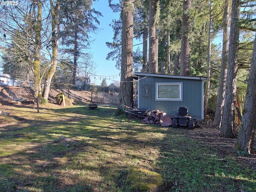
[(62, 31), (62, 45), (64, 52), (73, 57), (73, 84), (75, 84), (78, 59), (81, 50), (90, 46), (89, 33), (98, 30), (98, 16), (102, 14), (92, 9), (93, 0), (63, 1), (61, 15), (64, 30)]

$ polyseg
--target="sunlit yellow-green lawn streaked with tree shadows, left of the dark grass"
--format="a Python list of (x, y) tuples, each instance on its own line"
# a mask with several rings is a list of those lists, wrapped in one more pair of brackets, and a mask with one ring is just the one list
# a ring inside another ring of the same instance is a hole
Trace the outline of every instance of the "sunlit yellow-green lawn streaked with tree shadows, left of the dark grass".
[(159, 145), (154, 135), (166, 130), (113, 122), (109, 115), (65, 118), (30, 120), (26, 126), (5, 128), (0, 142), (7, 144), (0, 155), (1, 191), (107, 192), (123, 188), (125, 180), (120, 179), (128, 166), (152, 168)]

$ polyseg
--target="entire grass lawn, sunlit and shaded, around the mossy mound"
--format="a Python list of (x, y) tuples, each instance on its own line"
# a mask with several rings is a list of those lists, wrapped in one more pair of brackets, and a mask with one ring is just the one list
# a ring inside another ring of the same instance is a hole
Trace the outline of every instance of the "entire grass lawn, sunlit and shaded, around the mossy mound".
[(124, 192), (131, 168), (158, 172), (170, 192), (256, 191), (255, 164), (115, 110), (10, 108), (0, 117), (12, 123), (0, 129), (0, 191)]

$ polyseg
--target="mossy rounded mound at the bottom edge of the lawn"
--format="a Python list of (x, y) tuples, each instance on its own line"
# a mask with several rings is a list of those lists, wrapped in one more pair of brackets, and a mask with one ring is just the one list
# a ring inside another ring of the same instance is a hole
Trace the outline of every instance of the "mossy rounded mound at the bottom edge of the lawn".
[(131, 168), (126, 178), (126, 191), (160, 192), (165, 187), (161, 174), (143, 168)]

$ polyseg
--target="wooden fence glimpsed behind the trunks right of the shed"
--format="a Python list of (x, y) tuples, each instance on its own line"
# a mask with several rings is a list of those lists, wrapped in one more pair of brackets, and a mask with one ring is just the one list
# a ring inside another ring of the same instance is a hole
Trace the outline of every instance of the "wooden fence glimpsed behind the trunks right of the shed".
[[(240, 110), (241, 115), (242, 115), (242, 111), (244, 109), (244, 100), (245, 100), (245, 96), (243, 96), (243, 95), (236, 96), (236, 102), (238, 104), (238, 108)], [(216, 111), (216, 106), (217, 106), (217, 96), (213, 96), (209, 100), (208, 107), (209, 107), (210, 110), (215, 112)], [(235, 120), (234, 120), (235, 123), (241, 124), (241, 121), (238, 117), (238, 113), (237, 113), (236, 108), (235, 108), (235, 117), (234, 118), (235, 118)]]

